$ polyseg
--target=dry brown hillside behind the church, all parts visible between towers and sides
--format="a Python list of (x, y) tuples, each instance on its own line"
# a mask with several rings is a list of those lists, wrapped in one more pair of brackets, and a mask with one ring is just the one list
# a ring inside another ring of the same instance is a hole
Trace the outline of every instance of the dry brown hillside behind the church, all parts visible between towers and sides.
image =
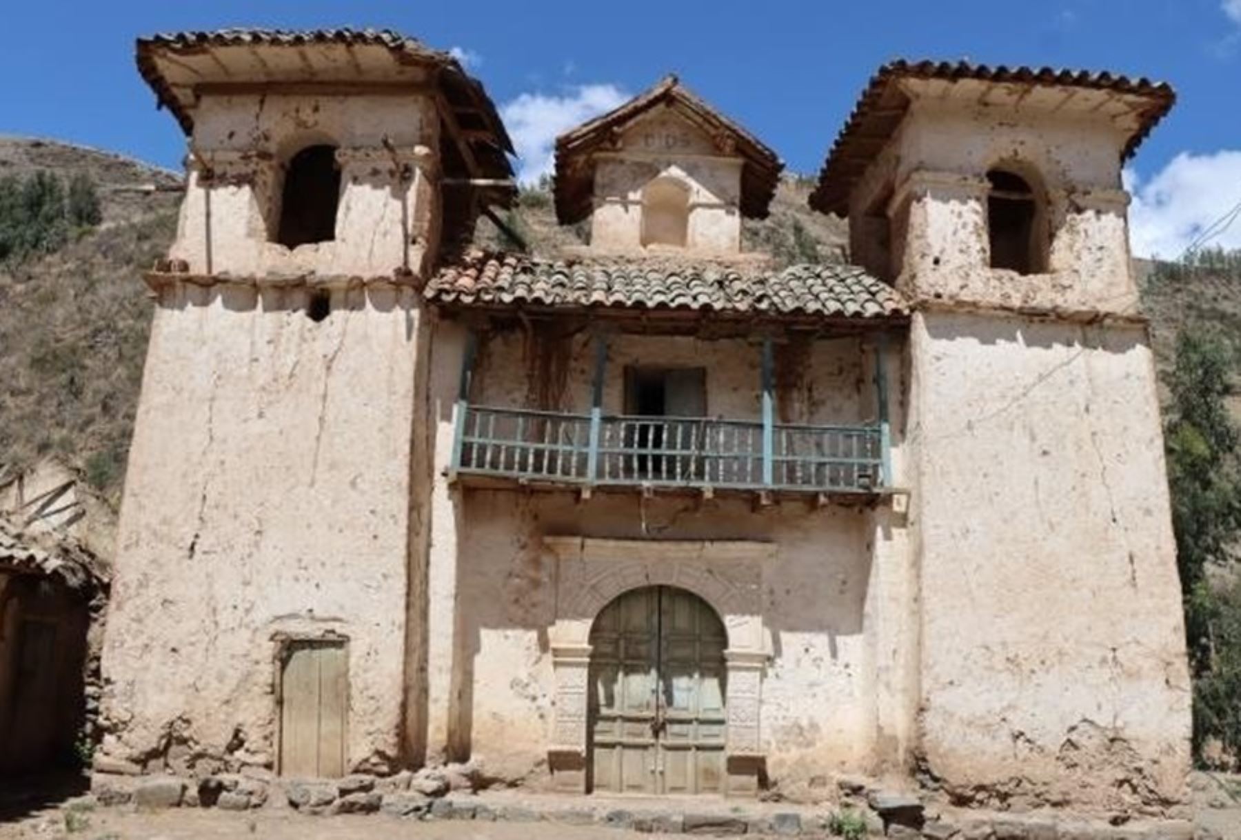
[[(115, 503), (150, 323), (139, 274), (168, 248), (180, 201), (175, 192), (134, 187), (175, 185), (180, 177), (92, 149), (0, 136), (0, 176), (36, 170), (66, 180), (89, 175), (103, 221), (53, 254), (0, 264), (0, 467), (55, 454)], [(779, 264), (844, 259), (848, 228), (807, 207), (810, 187), (808, 179), (784, 179), (771, 216), (743, 223), (746, 248), (769, 252)], [(504, 216), (540, 256), (556, 257), (586, 241), (585, 225), (556, 225), (546, 187), (524, 191)], [(486, 220), (475, 242), (510, 247)], [(1207, 267), (1173, 275), (1145, 263), (1138, 268), (1162, 367), (1181, 326), (1241, 335), (1241, 270)], [(1235, 408), (1241, 413), (1241, 403)]]

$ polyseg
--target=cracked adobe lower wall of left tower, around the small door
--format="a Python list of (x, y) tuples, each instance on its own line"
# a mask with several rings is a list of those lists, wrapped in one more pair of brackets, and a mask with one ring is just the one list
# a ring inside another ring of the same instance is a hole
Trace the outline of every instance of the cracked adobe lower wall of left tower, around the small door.
[(349, 644), (346, 766), (400, 753), (422, 313), (354, 285), (315, 323), (308, 294), (161, 288), (103, 656), (112, 766), (271, 767), (280, 639), (325, 635)]

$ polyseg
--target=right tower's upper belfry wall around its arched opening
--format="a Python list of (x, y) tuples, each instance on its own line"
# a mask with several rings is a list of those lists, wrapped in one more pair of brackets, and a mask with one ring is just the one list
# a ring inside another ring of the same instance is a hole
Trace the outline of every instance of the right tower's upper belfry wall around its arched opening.
[[(1102, 115), (1049, 114), (915, 99), (891, 145), (850, 200), (891, 220), (892, 273), (915, 302), (1065, 315), (1137, 311), (1121, 185), (1124, 135)], [(987, 171), (1026, 177), (1047, 212), (1047, 270), (988, 267)], [(854, 251), (884, 262), (856, 226)]]

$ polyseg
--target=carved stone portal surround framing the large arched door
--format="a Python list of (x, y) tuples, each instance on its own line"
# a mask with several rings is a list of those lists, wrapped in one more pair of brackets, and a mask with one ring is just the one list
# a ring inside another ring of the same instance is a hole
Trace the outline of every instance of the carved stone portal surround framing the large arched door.
[[(556, 787), (585, 790), (591, 627), (620, 594), (648, 586), (692, 592), (720, 615), (725, 651), (730, 767), (762, 761), (759, 707), (768, 643), (762, 620), (763, 565), (776, 546), (752, 541), (603, 540), (544, 537), (556, 560), (556, 623), (549, 638), (555, 672), (555, 718), (549, 759)], [(752, 775), (741, 771), (742, 775)], [(737, 789), (738, 785), (733, 785)]]

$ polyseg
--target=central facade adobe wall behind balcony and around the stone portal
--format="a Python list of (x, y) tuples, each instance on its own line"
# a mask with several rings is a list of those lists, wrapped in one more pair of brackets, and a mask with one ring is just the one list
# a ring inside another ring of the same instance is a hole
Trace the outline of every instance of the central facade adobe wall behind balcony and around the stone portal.
[[(446, 326), (448, 334), (454, 329)], [(586, 411), (592, 346), (586, 334), (571, 341), (560, 404)], [(757, 344), (616, 335), (609, 347), (606, 412), (622, 408), (624, 365), (645, 361), (702, 365), (710, 416), (758, 417)], [(472, 402), (530, 404), (527, 382), (539, 371), (532, 350), (520, 333), (493, 336), (480, 352)], [(793, 422), (874, 418), (869, 345), (864, 350), (858, 337), (820, 341), (807, 361), (800, 387), (787, 392)], [(890, 362), (890, 370), (898, 381), (898, 366)], [(900, 412), (895, 398), (894, 412)], [(900, 438), (896, 449), (901, 474)], [(565, 583), (565, 560), (549, 537), (583, 536), (652, 541), (654, 558), (663, 556), (660, 542), (771, 543), (774, 553), (758, 568), (758, 603), (767, 654), (759, 737), (772, 782), (787, 795), (813, 799), (834, 792), (834, 772), (905, 766), (916, 706), (916, 628), (903, 517), (890, 507), (756, 509), (751, 499), (643, 500), (637, 490), (589, 500), (567, 491), (446, 489), (446, 495), (453, 501), (437, 507), (431, 568), (432, 577), (453, 581), (449, 602), (458, 608), (453, 649), (441, 651), (436, 677), (452, 690), (439, 695), (442, 706), (432, 696), (429, 713), (433, 721), (443, 716), (438, 726), (449, 753), (480, 759), (506, 779), (551, 784), (552, 637), (565, 603), (582, 593), (573, 588), (580, 584)], [(728, 586), (748, 586), (728, 578), (726, 563), (709, 557), (705, 568), (716, 568)], [(438, 598), (432, 610), (447, 608), (444, 596)]]

